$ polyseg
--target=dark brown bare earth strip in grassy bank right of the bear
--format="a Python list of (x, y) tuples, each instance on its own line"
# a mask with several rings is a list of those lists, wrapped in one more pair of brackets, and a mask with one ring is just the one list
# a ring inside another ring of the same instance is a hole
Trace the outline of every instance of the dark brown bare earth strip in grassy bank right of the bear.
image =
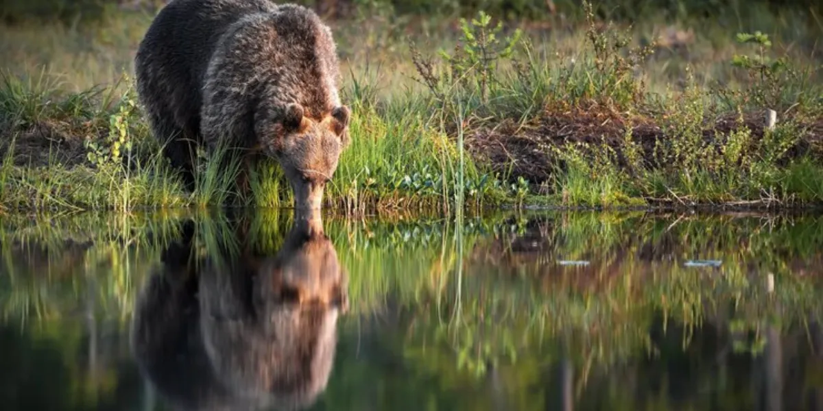
[[(741, 119), (737, 113), (718, 115), (705, 120), (701, 126), (703, 143), (714, 150), (723, 150), (730, 132), (748, 129), (751, 145), (746, 150), (757, 150), (765, 132), (765, 111), (745, 113)], [(823, 117), (782, 118), (782, 122), (795, 122), (801, 134), (797, 143), (789, 147), (781, 161), (788, 162), (802, 155), (823, 159)], [(616, 113), (608, 109), (546, 109), (540, 115), (518, 123), (511, 119), (486, 123), (467, 133), (467, 150), (481, 164), (512, 179), (526, 178), (529, 182), (546, 182), (556, 171), (556, 156), (551, 147), (582, 143), (593, 150), (599, 145), (609, 145), (616, 151), (616, 164), (625, 167), (626, 137), (639, 145), (642, 162), (647, 168), (657, 168), (655, 146), (670, 144), (676, 129), (660, 124), (644, 115)]]

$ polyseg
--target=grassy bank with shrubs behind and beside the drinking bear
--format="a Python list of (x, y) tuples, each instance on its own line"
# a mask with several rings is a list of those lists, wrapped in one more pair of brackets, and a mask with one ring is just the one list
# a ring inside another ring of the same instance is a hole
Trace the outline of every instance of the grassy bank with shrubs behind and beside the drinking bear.
[[(629, 26), (606, 24), (602, 9), (506, 21), (500, 31), (482, 16), (462, 26), (386, 7), (330, 20), (353, 120), (328, 205), (363, 213), (823, 202), (823, 25), (813, 10), (649, 12), (624, 19)], [(80, 25), (0, 27), (0, 210), (231, 198), (233, 176), (207, 158), (197, 190), (184, 192), (135, 104), (128, 73), (151, 17), (118, 11)], [(769, 38), (737, 38), (756, 30)], [(765, 127), (768, 109), (774, 129)], [(277, 207), (291, 198), (277, 166), (264, 164), (240, 201)]]

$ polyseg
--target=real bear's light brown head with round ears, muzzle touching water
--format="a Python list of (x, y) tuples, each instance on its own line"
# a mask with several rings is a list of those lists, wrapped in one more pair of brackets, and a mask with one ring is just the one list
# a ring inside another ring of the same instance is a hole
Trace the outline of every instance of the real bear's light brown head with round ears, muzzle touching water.
[(291, 183), (295, 208), (313, 210), (320, 208), (323, 189), (349, 144), (351, 110), (337, 106), (320, 121), (305, 114), (300, 104), (260, 111), (255, 132), (263, 152), (277, 159)]

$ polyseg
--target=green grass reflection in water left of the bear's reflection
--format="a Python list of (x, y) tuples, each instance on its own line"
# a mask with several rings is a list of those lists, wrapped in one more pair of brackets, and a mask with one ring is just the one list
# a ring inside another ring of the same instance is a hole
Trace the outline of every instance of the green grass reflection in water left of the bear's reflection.
[(96, 312), (116, 313), (125, 321), (135, 284), (178, 235), (170, 217), (90, 213), (5, 219), (0, 225), (3, 316), (58, 320), (91, 300)]

